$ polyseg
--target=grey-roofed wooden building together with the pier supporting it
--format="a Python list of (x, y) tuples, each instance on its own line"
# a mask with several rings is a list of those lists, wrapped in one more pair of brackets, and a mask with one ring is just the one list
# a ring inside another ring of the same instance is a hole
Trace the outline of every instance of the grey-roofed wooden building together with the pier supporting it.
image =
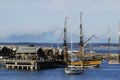
[(54, 62), (48, 61), (40, 47), (19, 46), (16, 50), (15, 59), (5, 59), (7, 69), (39, 70), (51, 68)]

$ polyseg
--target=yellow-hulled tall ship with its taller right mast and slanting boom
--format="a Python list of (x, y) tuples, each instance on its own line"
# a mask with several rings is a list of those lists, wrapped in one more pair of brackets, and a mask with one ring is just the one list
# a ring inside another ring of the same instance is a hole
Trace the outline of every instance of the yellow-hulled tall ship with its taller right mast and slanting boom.
[[(91, 40), (95, 35), (90, 37), (87, 41), (83, 41), (83, 31), (82, 31), (82, 12), (80, 13), (80, 50), (76, 52), (76, 54), (79, 56), (80, 61), (74, 61), (72, 64), (76, 66), (83, 66), (83, 67), (99, 67), (101, 64), (101, 56), (98, 54), (90, 55), (92, 53), (85, 53), (84, 47), (87, 44), (89, 40)], [(67, 61), (67, 64), (71, 64), (70, 61)]]

